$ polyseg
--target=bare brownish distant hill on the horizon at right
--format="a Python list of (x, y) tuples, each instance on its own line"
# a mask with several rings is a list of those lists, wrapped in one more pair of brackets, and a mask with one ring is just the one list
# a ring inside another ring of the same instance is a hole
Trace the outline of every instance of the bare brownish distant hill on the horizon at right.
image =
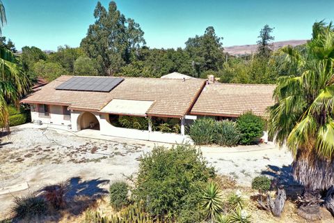
[[(302, 45), (306, 43), (307, 40), (286, 40), (286, 41), (279, 41), (273, 43), (274, 49), (279, 49), (280, 47), (284, 47), (286, 45), (292, 45), (293, 47)], [(224, 52), (228, 52), (233, 56), (237, 55), (245, 55), (245, 54), (252, 54), (257, 51), (257, 45), (239, 45), (239, 46), (232, 46), (232, 47), (224, 47)]]

